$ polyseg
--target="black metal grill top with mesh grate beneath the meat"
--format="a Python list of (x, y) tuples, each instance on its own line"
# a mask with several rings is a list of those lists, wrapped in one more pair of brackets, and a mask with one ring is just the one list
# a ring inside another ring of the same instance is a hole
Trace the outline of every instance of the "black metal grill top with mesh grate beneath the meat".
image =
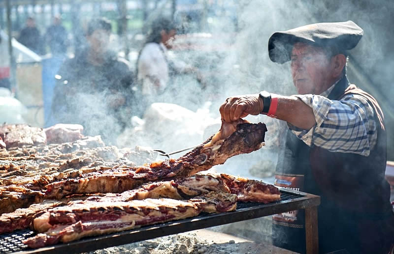
[[(17, 230), (0, 235), (0, 254), (9, 254), (21, 251), (54, 254), (66, 251), (67, 253), (92, 251), (110, 246), (153, 239), (164, 235), (258, 218), (282, 212), (286, 210), (284, 209), (286, 207), (292, 207), (292, 209), (294, 209), (293, 207), (296, 207), (296, 209), (303, 208), (302, 205), (304, 204), (304, 201), (310, 201), (310, 199), (311, 198), (307, 198), (306, 195), (303, 195), (302, 193), (281, 190), (281, 199), (268, 204), (257, 202), (237, 202), (237, 209), (234, 212), (218, 214), (201, 213), (200, 215), (189, 219), (143, 226), (141, 228), (103, 236), (87, 237), (68, 244), (56, 244), (51, 246), (52, 248), (46, 248), (45, 250), (42, 248), (33, 250), (22, 243), (22, 240), (34, 236), (36, 234), (35, 232), (30, 229)], [(298, 206), (290, 206), (292, 204)], [(277, 210), (276, 208), (280, 208), (282, 210)]]

